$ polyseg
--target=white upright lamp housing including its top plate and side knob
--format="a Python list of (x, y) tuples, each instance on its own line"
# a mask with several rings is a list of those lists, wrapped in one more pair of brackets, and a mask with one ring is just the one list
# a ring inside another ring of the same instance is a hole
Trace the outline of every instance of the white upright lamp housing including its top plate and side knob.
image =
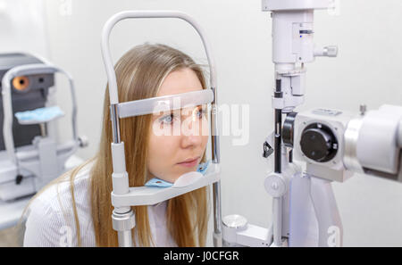
[(272, 12), (272, 62), (275, 78), (281, 79), (281, 98), (272, 106), (283, 113), (304, 103), (306, 68), (315, 56), (335, 57), (336, 46), (314, 45), (314, 10), (334, 7), (333, 0), (263, 0), (263, 11)]

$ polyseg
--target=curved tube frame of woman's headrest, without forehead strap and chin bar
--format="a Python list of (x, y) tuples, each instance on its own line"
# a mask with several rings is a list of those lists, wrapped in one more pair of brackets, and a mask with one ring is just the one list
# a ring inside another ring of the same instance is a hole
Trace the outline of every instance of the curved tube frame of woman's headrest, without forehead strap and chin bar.
[[(220, 163), (220, 145), (218, 135), (218, 117), (216, 112), (217, 106), (217, 91), (216, 91), (216, 73), (211, 48), (206, 41), (204, 31), (188, 14), (175, 11), (126, 11), (119, 12), (113, 15), (106, 21), (102, 31), (102, 56), (105, 63), (105, 70), (109, 85), (110, 104), (111, 104), (111, 119), (113, 127), (113, 194), (127, 195), (130, 192), (128, 174), (125, 167), (124, 143), (121, 142), (121, 133), (119, 128), (118, 114), (118, 89), (116, 75), (113, 68), (113, 60), (109, 48), (109, 37), (113, 27), (120, 21), (126, 19), (140, 18), (177, 18), (187, 21), (194, 29), (197, 30), (201, 37), (210, 70), (210, 87), (214, 92), (214, 101), (212, 102), (211, 115), (211, 145), (212, 145), (212, 161), (215, 164)], [(213, 184), (214, 188), (214, 245), (222, 245), (222, 216), (221, 216), (221, 181), (218, 180)], [(118, 232), (119, 245), (131, 246), (132, 237), (131, 229), (135, 226), (135, 213), (130, 210), (130, 207), (115, 207), (113, 210), (113, 228)]]

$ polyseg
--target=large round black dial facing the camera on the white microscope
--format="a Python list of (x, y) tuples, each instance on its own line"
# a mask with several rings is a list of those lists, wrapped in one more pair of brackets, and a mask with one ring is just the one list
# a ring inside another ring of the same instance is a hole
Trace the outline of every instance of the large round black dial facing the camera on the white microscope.
[(338, 151), (338, 141), (331, 128), (313, 123), (307, 126), (300, 139), (302, 152), (314, 161), (330, 161)]

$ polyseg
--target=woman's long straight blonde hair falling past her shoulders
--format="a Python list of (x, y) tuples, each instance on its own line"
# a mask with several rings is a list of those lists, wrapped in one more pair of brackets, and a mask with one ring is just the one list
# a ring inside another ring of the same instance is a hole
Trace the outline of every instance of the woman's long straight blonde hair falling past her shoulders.
[[(196, 64), (187, 54), (164, 45), (144, 44), (135, 46), (124, 54), (114, 67), (119, 102), (157, 96), (166, 76), (172, 71), (185, 68), (193, 70), (205, 88), (204, 74), (200, 65)], [(108, 90), (106, 87), (102, 135), (96, 156), (80, 167), (65, 173), (62, 177), (56, 178), (48, 185), (51, 186), (57, 183), (59, 179), (70, 177), (72, 210), (79, 246), (81, 245), (80, 221), (74, 196), (74, 178), (80, 169), (91, 161), (94, 164), (90, 170), (89, 192), (96, 245), (118, 246), (117, 232), (113, 230), (111, 218), (113, 211), (110, 196), (113, 191), (111, 153), (113, 135)], [(151, 119), (152, 114), (148, 114), (120, 121), (121, 141), (124, 142), (126, 161), (130, 161), (127, 163), (130, 186), (144, 186), (148, 180), (147, 143), (151, 132)], [(205, 161), (205, 153), (201, 161)], [(136, 216), (136, 227), (133, 229), (134, 244), (136, 244), (136, 237), (139, 245), (150, 246), (154, 244), (149, 227), (147, 206), (131, 208)], [(168, 200), (166, 208), (167, 228), (175, 243), (178, 246), (205, 246), (208, 215), (206, 187)]]

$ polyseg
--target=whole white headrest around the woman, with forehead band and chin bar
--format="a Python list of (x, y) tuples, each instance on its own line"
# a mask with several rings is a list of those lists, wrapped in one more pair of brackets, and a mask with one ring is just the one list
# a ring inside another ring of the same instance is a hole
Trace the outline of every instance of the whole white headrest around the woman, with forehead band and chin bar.
[[(165, 95), (143, 100), (119, 103), (116, 75), (113, 68), (113, 60), (109, 49), (109, 36), (113, 27), (126, 19), (138, 18), (178, 18), (187, 21), (201, 37), (210, 70), (210, 89), (183, 93), (179, 95)], [(110, 109), (113, 127), (112, 159), (113, 159), (113, 192), (112, 205), (114, 207), (112, 220), (113, 229), (117, 231), (120, 246), (132, 245), (131, 229), (135, 227), (135, 212), (130, 206), (152, 205), (160, 203), (172, 197), (183, 195), (197, 188), (213, 184), (214, 191), (214, 245), (222, 245), (222, 219), (221, 219), (221, 182), (220, 182), (220, 153), (219, 136), (217, 127), (217, 112), (211, 112), (211, 152), (212, 164), (205, 175), (194, 178), (192, 181), (181, 182), (180, 186), (129, 186), (129, 176), (126, 170), (126, 158), (124, 143), (121, 142), (119, 120), (154, 112), (170, 112), (172, 110), (197, 106), (199, 104), (211, 104), (215, 110), (216, 98), (216, 74), (211, 48), (206, 41), (203, 30), (187, 14), (168, 11), (128, 11), (119, 12), (106, 21), (102, 32), (102, 56), (109, 85)], [(177, 104), (180, 103), (180, 104)], [(182, 177), (180, 177), (182, 178)], [(180, 179), (179, 178), (179, 179)]]

